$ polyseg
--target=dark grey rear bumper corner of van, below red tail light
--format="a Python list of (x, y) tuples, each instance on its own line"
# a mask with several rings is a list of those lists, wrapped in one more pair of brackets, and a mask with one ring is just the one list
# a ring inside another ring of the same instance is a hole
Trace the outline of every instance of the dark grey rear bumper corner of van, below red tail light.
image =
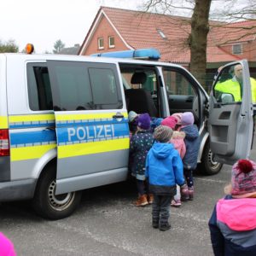
[(32, 199), (37, 180), (22, 179), (0, 183), (0, 201), (16, 201)]

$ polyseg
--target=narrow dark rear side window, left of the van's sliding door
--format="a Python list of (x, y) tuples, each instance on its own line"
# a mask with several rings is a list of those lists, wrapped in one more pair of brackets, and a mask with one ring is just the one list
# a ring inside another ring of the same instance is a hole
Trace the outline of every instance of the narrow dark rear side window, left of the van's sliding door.
[(27, 89), (29, 108), (31, 110), (53, 109), (49, 73), (46, 64), (27, 64)]

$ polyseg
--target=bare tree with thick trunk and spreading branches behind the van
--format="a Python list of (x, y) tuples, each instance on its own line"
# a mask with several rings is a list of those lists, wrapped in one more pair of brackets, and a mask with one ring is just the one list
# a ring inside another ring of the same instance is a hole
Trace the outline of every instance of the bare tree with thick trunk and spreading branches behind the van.
[(144, 10), (166, 15), (186, 15), (190, 18), (182, 20), (190, 25), (183, 44), (190, 49), (189, 69), (201, 84), (204, 84), (207, 68), (207, 36), (210, 29), (231, 28), (234, 31), (231, 39), (224, 37), (216, 45), (234, 43), (250, 34), (256, 34), (255, 25), (243, 26), (241, 22), (234, 26), (236, 21), (255, 20), (256, 0), (146, 0)]

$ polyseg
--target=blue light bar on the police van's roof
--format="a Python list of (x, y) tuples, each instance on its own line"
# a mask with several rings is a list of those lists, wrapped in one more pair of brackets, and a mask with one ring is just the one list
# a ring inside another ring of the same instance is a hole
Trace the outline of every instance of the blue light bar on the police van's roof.
[(144, 59), (144, 60), (157, 61), (160, 59), (160, 52), (154, 48), (128, 49), (128, 50), (98, 53), (98, 54), (93, 54), (92, 56), (111, 57), (111, 58)]

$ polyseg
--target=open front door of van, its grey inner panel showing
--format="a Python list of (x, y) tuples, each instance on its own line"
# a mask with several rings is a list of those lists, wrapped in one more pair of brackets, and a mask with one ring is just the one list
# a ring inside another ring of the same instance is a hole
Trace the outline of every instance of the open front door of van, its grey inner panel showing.
[(247, 61), (222, 68), (209, 98), (208, 131), (214, 160), (234, 164), (247, 159), (253, 141), (253, 103)]

